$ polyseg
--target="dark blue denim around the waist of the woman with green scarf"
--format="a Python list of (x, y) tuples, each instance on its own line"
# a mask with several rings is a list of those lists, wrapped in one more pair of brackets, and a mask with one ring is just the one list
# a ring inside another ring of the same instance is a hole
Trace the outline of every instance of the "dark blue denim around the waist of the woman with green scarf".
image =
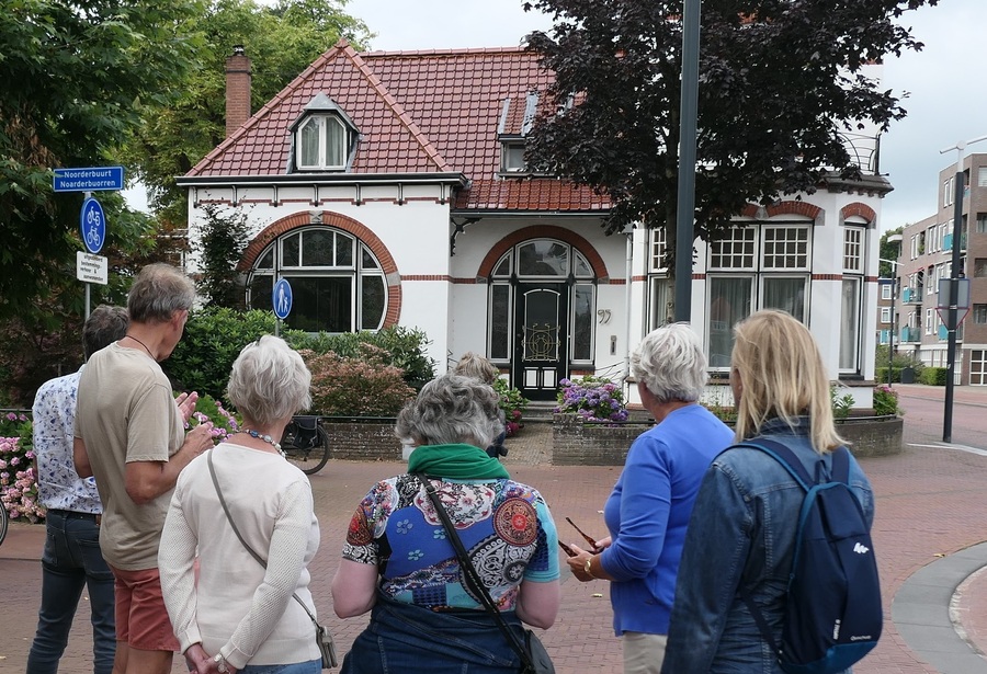
[[(501, 614), (523, 639), (513, 612)], [(340, 674), (517, 674), (521, 661), (484, 610), (432, 612), (377, 593)]]

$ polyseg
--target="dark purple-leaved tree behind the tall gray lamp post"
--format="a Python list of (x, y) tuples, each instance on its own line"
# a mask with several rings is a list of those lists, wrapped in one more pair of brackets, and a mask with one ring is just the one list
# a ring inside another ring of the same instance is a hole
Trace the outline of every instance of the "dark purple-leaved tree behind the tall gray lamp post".
[[(894, 20), (938, 0), (705, 0), (695, 232), (714, 240), (749, 203), (860, 175), (847, 136), (905, 115), (864, 66), (920, 49)], [(556, 73), (530, 163), (609, 194), (608, 232), (665, 227), (676, 250), (682, 0), (525, 0), (554, 16), (530, 46)], [(572, 96), (570, 99), (570, 96)], [(567, 105), (566, 101), (575, 101)]]

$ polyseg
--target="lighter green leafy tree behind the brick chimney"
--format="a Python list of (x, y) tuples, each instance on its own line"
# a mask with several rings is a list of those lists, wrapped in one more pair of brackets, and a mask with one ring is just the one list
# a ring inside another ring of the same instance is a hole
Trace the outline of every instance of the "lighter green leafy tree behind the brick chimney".
[(124, 148), (128, 164), (147, 185), (163, 224), (183, 228), (185, 191), (174, 179), (226, 136), (226, 57), (242, 45), (251, 60), (252, 110), (259, 110), (340, 37), (358, 46), (372, 37), (366, 25), (342, 11), (345, 0), (217, 0), (196, 20), (204, 38), (179, 99), (144, 117)]

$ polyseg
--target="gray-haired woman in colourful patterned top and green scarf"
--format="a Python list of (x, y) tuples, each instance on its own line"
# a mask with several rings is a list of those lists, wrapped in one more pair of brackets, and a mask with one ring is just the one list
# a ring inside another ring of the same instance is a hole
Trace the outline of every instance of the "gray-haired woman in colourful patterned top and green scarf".
[(418, 446), (408, 473), (377, 482), (350, 522), (332, 604), (341, 618), (372, 610), (344, 674), (451, 671), (517, 674), (521, 662), (464, 580), (428, 495), (434, 488), (500, 615), (548, 628), (559, 605), (555, 523), (533, 488), (487, 456), (502, 430), (497, 393), (444, 375), (401, 410), (395, 433)]

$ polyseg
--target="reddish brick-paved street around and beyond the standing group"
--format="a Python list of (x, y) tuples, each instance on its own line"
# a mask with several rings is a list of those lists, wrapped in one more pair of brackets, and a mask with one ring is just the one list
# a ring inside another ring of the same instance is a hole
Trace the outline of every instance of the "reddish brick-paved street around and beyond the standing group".
[[(916, 643), (915, 630), (908, 635), (908, 626), (899, 631), (893, 620), (892, 605), (903, 587), (915, 586), (915, 579), (920, 578), (917, 572), (935, 571), (934, 564), (940, 560), (960, 560), (963, 555), (977, 550), (972, 546), (987, 541), (987, 517), (984, 515), (987, 513), (987, 480), (984, 479), (987, 470), (987, 388), (957, 387), (953, 444), (949, 446), (940, 442), (942, 389), (896, 388), (906, 410), (905, 452), (863, 460), (877, 494), (874, 542), (881, 562), (886, 626), (881, 643), (855, 667), (855, 672), (975, 674), (982, 670), (976, 666), (951, 669), (949, 665), (937, 669), (932, 661), (943, 662), (943, 659), (930, 651), (937, 648), (935, 643)], [(548, 426), (542, 424), (529, 424), (517, 438), (509, 439), (507, 464), (512, 475), (545, 494), (563, 526), (564, 517), (568, 515), (586, 524), (589, 533), (602, 535), (600, 509), (620, 469), (547, 465), (545, 457), (549, 443)], [(332, 613), (329, 583), (336, 571), (340, 542), (360, 498), (374, 481), (399, 472), (401, 467), (397, 461), (330, 461), (311, 479), (322, 527), (322, 548), (311, 568), (313, 591), (319, 615), (331, 626), (343, 653), (366, 620), (339, 620)], [(0, 672), (24, 671), (36, 619), (41, 578), (37, 559), (43, 536), (43, 527), (13, 525), (7, 542), (0, 547)], [(575, 535), (572, 537), (575, 539)], [(987, 550), (984, 556), (987, 563)], [(606, 583), (579, 583), (567, 571), (563, 574), (563, 609), (556, 625), (543, 636), (558, 673), (620, 672), (620, 643), (611, 629)], [(935, 578), (940, 575), (937, 572)], [(961, 584), (961, 581), (965, 582)], [(957, 584), (961, 584), (960, 591), (954, 592)], [(945, 596), (955, 605), (953, 615), (958, 629), (974, 643), (971, 647), (958, 642), (961, 647), (972, 653), (976, 643), (987, 643), (987, 574), (969, 579), (964, 575), (945, 589)], [(930, 604), (930, 615), (943, 608), (941, 603), (935, 599)], [(903, 632), (908, 636), (908, 641)], [(955, 628), (951, 633), (955, 636)], [(80, 613), (61, 671), (79, 674), (91, 671), (90, 650), (88, 619)], [(173, 673), (183, 671), (178, 658)], [(983, 671), (987, 672), (987, 669)]]

